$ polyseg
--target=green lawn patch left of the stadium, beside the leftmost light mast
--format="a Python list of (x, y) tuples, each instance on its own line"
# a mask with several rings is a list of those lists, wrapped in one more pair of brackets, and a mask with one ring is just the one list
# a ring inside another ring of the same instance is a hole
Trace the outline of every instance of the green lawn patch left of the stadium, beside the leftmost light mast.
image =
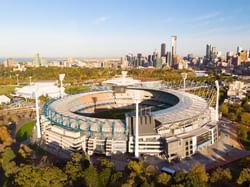
[(33, 127), (35, 126), (36, 121), (29, 121), (25, 123), (16, 133), (16, 140), (22, 142), (27, 140), (32, 135)]

